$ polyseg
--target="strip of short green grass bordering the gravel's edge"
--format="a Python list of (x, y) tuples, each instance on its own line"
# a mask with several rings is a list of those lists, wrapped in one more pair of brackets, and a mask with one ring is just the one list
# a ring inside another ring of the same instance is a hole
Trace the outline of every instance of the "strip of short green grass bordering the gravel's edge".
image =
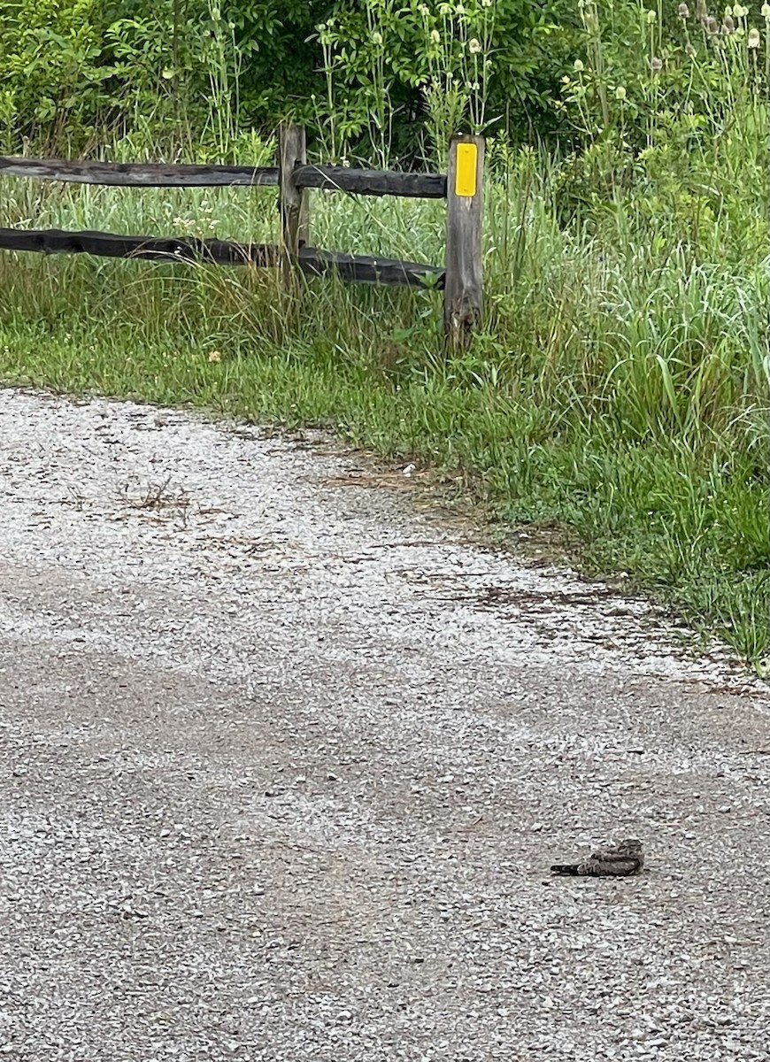
[(463, 365), (401, 369), (398, 380), (326, 337), (247, 349), (217, 333), (148, 339), (124, 321), (96, 321), (95, 305), (85, 321), (82, 306), (71, 310), (55, 323), (5, 322), (0, 376), (322, 424), (383, 455), (463, 472), (503, 519), (570, 529), (584, 569), (628, 572), (741, 657), (767, 652), (767, 483), (745, 455), (708, 461), (680, 439), (622, 443), (601, 419), (560, 423), (494, 380), (459, 386)]

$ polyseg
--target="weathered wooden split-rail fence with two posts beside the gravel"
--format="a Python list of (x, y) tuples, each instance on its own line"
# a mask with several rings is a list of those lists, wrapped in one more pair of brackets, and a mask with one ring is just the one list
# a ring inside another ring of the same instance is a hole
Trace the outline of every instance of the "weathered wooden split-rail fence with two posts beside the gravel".
[[(307, 161), (305, 130), (283, 125), (278, 166), (167, 166), (143, 162), (86, 162), (0, 156), (0, 175), (122, 187), (278, 187), (281, 241), (278, 245), (235, 243), (195, 237), (118, 236), (110, 233), (0, 228), (0, 249), (47, 254), (91, 254), (223, 266), (251, 263), (281, 270), (285, 286), (298, 294), (297, 274), (333, 272), (353, 284), (431, 287), (444, 292), (444, 328), (451, 348), (463, 348), (483, 308), (481, 210), (484, 141), (457, 136), (447, 173), (401, 173)], [(446, 253), (443, 267), (401, 259), (322, 251), (310, 243), (309, 189), (356, 195), (445, 199)]]

